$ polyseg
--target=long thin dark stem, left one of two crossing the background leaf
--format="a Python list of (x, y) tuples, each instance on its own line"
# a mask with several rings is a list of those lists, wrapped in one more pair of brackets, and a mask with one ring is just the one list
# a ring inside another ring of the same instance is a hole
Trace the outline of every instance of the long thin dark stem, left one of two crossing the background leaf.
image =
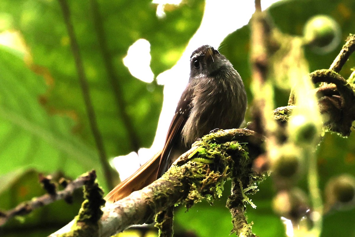
[(102, 168), (104, 170), (104, 175), (105, 175), (108, 187), (111, 189), (114, 187), (111, 168), (108, 163), (108, 159), (107, 159), (107, 155), (105, 152), (105, 147), (104, 147), (104, 143), (102, 140), (102, 136), (101, 136), (101, 133), (100, 133), (98, 125), (97, 125), (97, 119), (96, 119), (96, 115), (94, 112), (94, 107), (91, 102), (90, 93), (89, 93), (89, 85), (88, 85), (88, 82), (86, 79), (83, 63), (81, 60), (79, 45), (77, 43), (75, 32), (74, 32), (73, 25), (72, 25), (71, 18), (70, 18), (69, 5), (66, 0), (58, 0), (58, 1), (61, 6), (65, 25), (66, 25), (66, 28), (67, 28), (67, 31), (69, 34), (71, 50), (72, 50), (72, 53), (74, 56), (76, 70), (78, 72), (79, 82), (80, 82), (81, 91), (82, 91), (83, 97), (84, 97), (85, 108), (86, 108), (86, 112), (87, 112), (87, 115), (89, 118), (90, 128), (91, 128), (91, 131), (94, 136), (96, 147), (98, 149), (100, 163), (101, 163)]

